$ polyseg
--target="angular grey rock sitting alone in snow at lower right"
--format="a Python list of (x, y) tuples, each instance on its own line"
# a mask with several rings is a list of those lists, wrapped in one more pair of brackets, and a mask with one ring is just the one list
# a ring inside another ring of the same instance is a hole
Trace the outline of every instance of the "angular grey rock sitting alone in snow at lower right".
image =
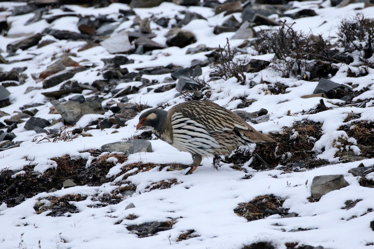
[(319, 200), (324, 194), (349, 186), (343, 175), (319, 175), (312, 181), (312, 196)]

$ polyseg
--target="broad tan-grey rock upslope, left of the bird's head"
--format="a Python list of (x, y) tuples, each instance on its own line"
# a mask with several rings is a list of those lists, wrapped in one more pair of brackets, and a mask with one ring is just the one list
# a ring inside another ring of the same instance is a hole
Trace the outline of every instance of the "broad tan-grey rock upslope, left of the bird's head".
[(86, 114), (104, 114), (101, 102), (94, 100), (85, 103), (79, 103), (76, 101), (67, 101), (60, 103), (58, 100), (52, 100), (52, 105), (55, 106), (58, 113), (64, 119), (64, 123), (67, 125), (75, 125), (76, 122)]

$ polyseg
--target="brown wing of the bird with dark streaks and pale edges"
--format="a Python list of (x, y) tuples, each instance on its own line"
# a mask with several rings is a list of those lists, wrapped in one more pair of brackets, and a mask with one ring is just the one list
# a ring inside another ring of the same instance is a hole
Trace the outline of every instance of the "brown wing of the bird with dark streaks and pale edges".
[(211, 101), (187, 102), (178, 110), (183, 116), (189, 118), (206, 128), (208, 133), (252, 130), (251, 127), (235, 113)]

